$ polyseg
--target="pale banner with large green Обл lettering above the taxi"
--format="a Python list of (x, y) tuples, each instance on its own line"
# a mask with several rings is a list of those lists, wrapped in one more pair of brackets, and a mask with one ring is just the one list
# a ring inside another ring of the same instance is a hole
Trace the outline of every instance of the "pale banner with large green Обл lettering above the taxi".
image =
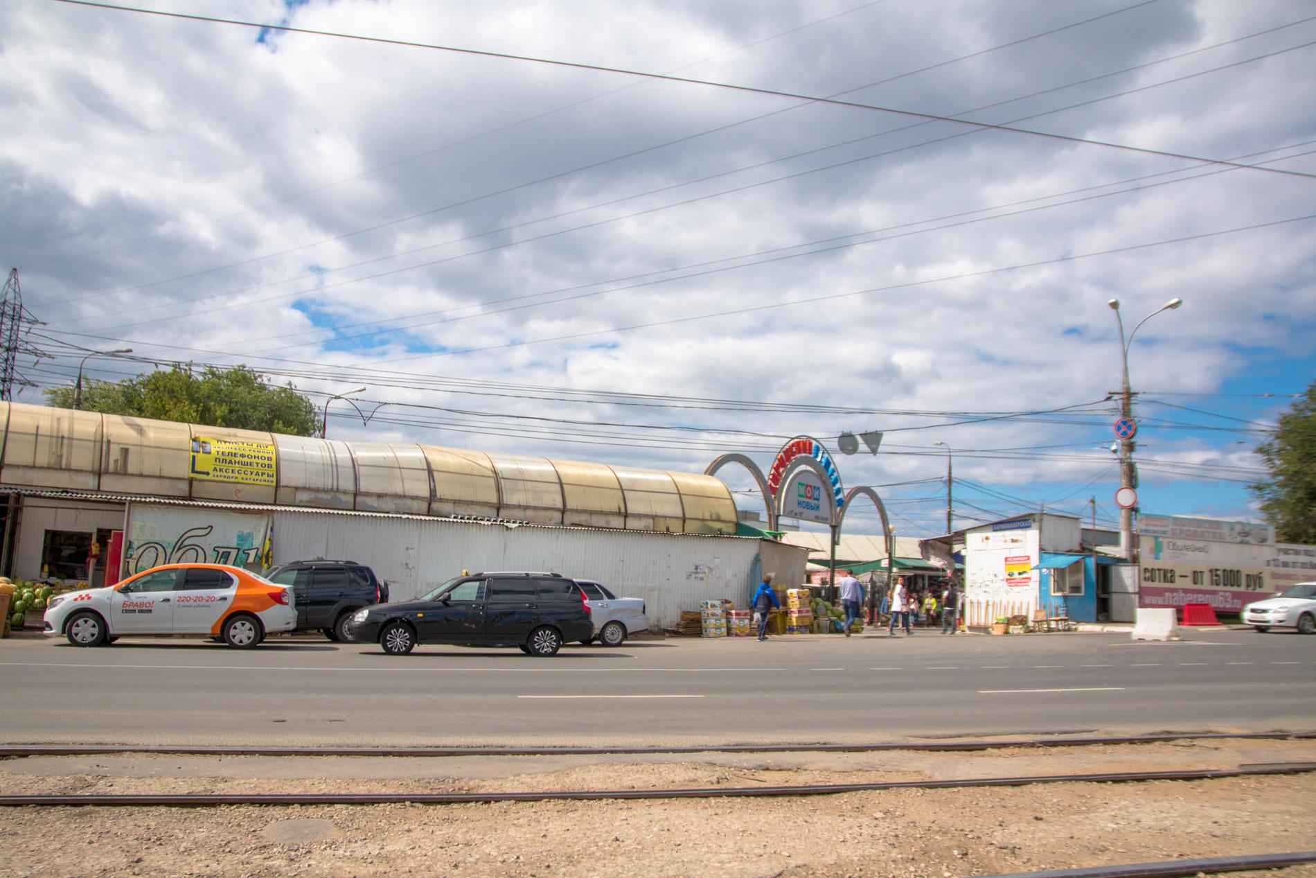
[(162, 563), (263, 566), (270, 516), (226, 509), (132, 504), (125, 575)]

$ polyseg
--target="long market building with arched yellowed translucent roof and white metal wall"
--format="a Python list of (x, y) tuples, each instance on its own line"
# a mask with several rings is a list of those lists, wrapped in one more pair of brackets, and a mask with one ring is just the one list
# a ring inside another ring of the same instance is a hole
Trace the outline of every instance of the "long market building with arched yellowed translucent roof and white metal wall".
[(659, 627), (740, 606), (807, 552), (737, 536), (719, 479), (418, 444), (343, 442), (0, 403), (0, 571), (109, 584), (166, 562), (350, 558), (407, 600), (462, 570), (553, 570)]

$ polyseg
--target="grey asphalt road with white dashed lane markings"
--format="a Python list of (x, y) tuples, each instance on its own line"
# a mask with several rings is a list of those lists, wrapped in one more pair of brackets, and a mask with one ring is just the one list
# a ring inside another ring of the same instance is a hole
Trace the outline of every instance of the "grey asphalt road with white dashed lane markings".
[(675, 745), (1316, 729), (1316, 637), (672, 638), (517, 650), (0, 641), (0, 741)]

